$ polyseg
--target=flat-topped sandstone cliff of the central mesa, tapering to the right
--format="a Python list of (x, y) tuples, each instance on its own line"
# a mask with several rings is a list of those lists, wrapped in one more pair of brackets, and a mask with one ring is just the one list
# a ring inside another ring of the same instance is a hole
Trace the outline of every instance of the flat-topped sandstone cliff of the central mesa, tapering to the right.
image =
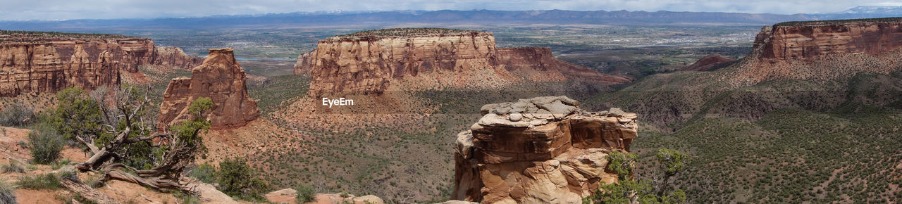
[(428, 73), (443, 73), (437, 81), (460, 86), (497, 84), (516, 80), (514, 75), (600, 84), (631, 80), (557, 60), (548, 48), (496, 49), (492, 33), (444, 29), (362, 31), (320, 40), (317, 49), (298, 57), (295, 74), (304, 73), (312, 77), (312, 95), (382, 93), (400, 79)]

